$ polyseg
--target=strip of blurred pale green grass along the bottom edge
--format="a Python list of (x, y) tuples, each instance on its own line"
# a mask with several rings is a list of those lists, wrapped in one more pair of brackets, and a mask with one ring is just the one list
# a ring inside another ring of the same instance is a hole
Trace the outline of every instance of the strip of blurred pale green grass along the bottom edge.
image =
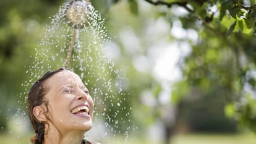
[[(29, 144), (29, 138), (33, 134), (27, 133), (22, 135), (14, 135), (12, 133), (0, 133), (0, 143), (8, 144)], [(138, 135), (139, 136), (139, 135)], [(123, 142), (124, 138), (118, 137), (109, 140), (109, 143), (116, 144), (117, 141)], [(155, 144), (163, 142), (154, 142), (141, 137), (129, 137), (126, 144)], [(186, 134), (174, 135), (170, 144), (255, 144), (256, 135), (254, 133), (247, 134)], [(119, 143), (122, 144), (122, 143)]]

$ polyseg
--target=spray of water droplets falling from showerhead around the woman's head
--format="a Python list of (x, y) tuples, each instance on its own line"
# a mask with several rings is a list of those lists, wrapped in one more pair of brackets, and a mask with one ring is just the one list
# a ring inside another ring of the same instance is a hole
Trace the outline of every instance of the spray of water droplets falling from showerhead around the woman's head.
[[(129, 117), (132, 109), (126, 103), (129, 93), (122, 90), (119, 70), (103, 55), (108, 50), (105, 45), (110, 41), (104, 20), (92, 4), (87, 2), (86, 5), (81, 5), (87, 9), (86, 22), (72, 22), (67, 19), (69, 6), (70, 2), (66, 2), (60, 7), (58, 14), (52, 18), (51, 25), (46, 27), (44, 38), (35, 48), (33, 63), (26, 68), (30, 79), (22, 84), (25, 92), (20, 94), (21, 109), (26, 109), (27, 97), (24, 96), (27, 96), (29, 88), (38, 78), (48, 70), (69, 67), (82, 78), (95, 101), (93, 129), (101, 130), (93, 134), (98, 135), (96, 139), (108, 142), (109, 138), (116, 138), (116, 135), (121, 134), (126, 137), (126, 141), (131, 127)], [(28, 119), (28, 114), (21, 109), (17, 114)], [(29, 127), (30, 124), (27, 123), (25, 127)], [(23, 122), (17, 119), (17, 125), (23, 125)]]

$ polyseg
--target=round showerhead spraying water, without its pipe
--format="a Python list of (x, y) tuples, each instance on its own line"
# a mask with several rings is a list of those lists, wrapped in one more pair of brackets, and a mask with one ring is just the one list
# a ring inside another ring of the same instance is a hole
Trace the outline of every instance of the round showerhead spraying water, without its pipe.
[(69, 1), (65, 18), (72, 28), (81, 29), (88, 25), (88, 14), (92, 5), (89, 1), (73, 0)]

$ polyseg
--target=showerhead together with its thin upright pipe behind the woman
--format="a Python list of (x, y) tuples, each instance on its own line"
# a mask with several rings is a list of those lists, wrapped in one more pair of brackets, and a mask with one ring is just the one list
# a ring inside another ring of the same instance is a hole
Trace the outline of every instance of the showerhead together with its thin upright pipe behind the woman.
[(88, 25), (88, 14), (90, 13), (90, 1), (89, 0), (72, 0), (68, 1), (67, 9), (65, 12), (65, 19), (67, 24), (74, 28), (74, 33), (72, 36), (72, 41), (67, 51), (67, 59), (65, 62), (65, 67), (69, 66), (70, 57), (72, 54), (72, 49), (75, 43), (76, 30), (87, 27)]

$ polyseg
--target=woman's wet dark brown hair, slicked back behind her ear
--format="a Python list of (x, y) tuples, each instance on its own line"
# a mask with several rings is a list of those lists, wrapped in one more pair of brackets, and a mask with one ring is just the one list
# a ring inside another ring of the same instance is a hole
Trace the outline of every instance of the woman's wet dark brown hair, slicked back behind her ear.
[[(57, 74), (58, 72), (61, 72), (63, 70), (70, 70), (66, 68), (61, 68), (54, 71), (46, 72), (43, 77), (41, 77), (39, 80), (37, 80), (32, 87), (30, 88), (30, 91), (28, 92), (28, 99), (27, 99), (27, 108), (28, 108), (28, 114), (30, 122), (33, 126), (33, 129), (35, 129), (35, 135), (30, 138), (30, 141), (33, 144), (41, 144), (44, 142), (45, 137), (45, 123), (38, 121), (36, 117), (33, 114), (33, 109), (35, 106), (40, 106), (41, 104), (45, 104), (46, 106), (46, 113), (48, 112), (48, 101), (45, 100), (45, 95), (48, 93), (49, 88), (46, 87), (45, 82), (48, 80), (48, 78), (52, 77), (54, 74)], [(70, 70), (72, 71), (72, 70)], [(46, 118), (48, 118), (46, 116)]]

